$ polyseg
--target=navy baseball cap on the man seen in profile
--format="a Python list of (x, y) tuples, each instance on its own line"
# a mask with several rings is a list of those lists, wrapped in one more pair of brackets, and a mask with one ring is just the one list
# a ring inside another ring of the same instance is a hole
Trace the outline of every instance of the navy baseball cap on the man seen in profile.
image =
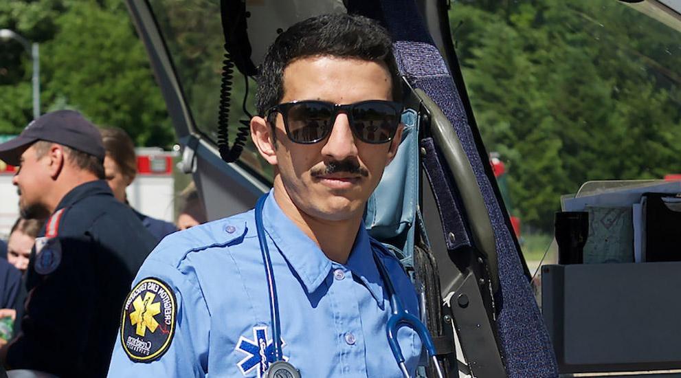
[(62, 144), (99, 157), (102, 161), (106, 154), (97, 126), (77, 111), (58, 110), (41, 115), (28, 124), (18, 137), (0, 144), (0, 159), (18, 166), (23, 151), (38, 140)]

